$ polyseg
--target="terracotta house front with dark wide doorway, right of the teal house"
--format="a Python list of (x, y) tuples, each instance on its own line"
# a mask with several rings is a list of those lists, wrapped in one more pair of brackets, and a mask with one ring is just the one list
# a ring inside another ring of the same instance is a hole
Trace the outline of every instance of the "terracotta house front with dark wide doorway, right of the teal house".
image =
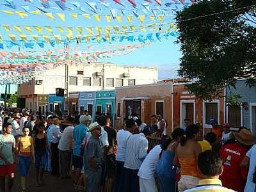
[(115, 128), (136, 114), (142, 122), (151, 124), (151, 115), (161, 115), (167, 123), (166, 133), (172, 132), (172, 83), (155, 83), (116, 88)]

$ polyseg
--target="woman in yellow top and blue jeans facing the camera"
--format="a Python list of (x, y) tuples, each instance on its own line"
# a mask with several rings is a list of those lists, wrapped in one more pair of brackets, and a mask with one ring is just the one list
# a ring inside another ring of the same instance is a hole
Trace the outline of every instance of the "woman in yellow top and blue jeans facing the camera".
[(19, 154), (19, 170), (22, 192), (26, 191), (26, 178), (29, 172), (31, 160), (35, 163), (34, 145), (31, 136), (29, 136), (29, 128), (22, 129), (22, 136), (17, 140), (17, 154)]

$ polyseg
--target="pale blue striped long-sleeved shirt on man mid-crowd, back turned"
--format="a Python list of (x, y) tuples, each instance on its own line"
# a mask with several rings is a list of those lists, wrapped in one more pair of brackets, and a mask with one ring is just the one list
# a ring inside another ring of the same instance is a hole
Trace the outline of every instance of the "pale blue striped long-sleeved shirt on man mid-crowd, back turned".
[(147, 156), (148, 140), (143, 133), (133, 134), (127, 141), (124, 167), (131, 170), (140, 169)]

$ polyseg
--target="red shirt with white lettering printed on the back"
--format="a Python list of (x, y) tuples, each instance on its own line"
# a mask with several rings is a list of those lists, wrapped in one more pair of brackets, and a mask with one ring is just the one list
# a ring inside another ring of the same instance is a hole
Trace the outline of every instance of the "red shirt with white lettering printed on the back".
[(246, 180), (243, 179), (244, 170), (240, 163), (246, 155), (246, 148), (238, 143), (224, 145), (220, 149), (220, 156), (223, 160), (223, 173), (220, 180), (225, 188), (243, 192)]

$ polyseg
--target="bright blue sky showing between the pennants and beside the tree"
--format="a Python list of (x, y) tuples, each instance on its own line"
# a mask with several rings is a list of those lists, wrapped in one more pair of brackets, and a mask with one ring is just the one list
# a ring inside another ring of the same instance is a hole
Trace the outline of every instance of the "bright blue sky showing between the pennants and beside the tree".
[[(10, 0), (8, 0), (10, 1)], [(74, 0), (75, 1), (75, 0)], [(127, 14), (126, 15), (132, 15), (132, 10), (134, 10), (134, 8), (131, 6), (131, 4), (129, 4), (127, 2), (127, 0), (121, 0), (122, 2), (124, 2), (125, 4), (127, 4), (127, 7), (125, 9), (127, 9)], [(189, 1), (189, 0), (186, 0)], [(87, 11), (88, 10), (88, 6), (84, 3), (85, 1), (77, 1), (77, 2), (83, 2), (81, 3), (81, 6), (84, 7), (84, 9), (86, 10), (86, 12), (79, 12), (76, 10), (76, 8), (74, 8), (73, 11), (63, 11), (63, 10), (54, 10), (52, 9), (53, 6), (55, 8), (58, 8), (58, 6), (56, 5), (56, 3), (54, 1), (51, 1), (50, 5), (51, 8), (50, 9), (45, 9), (45, 11), (47, 12), (52, 12), (54, 15), (54, 20), (51, 20), (49, 18), (47, 18), (45, 15), (41, 14), (41, 15), (33, 15), (31, 13), (28, 13), (28, 17), (25, 17), (24, 19), (21, 19), (19, 17), (19, 15), (13, 14), (13, 15), (7, 15), (6, 13), (1, 12), (1, 10), (10, 10), (10, 11), (17, 11), (17, 10), (22, 10), (22, 8), (20, 7), (20, 5), (28, 5), (29, 6), (29, 12), (33, 11), (33, 10), (37, 10), (36, 6), (40, 5), (40, 1), (39, 0), (34, 0), (35, 3), (26, 3), (24, 2), (24, 0), (14, 0), (14, 3), (17, 4), (17, 8), (16, 10), (12, 9), (12, 8), (8, 8), (7, 6), (4, 6), (3, 4), (6, 4), (6, 1), (4, 0), (0, 0), (0, 23), (1, 24), (8, 24), (10, 26), (51, 26), (52, 28), (54, 28), (54, 26), (72, 26), (73, 28), (76, 28), (77, 26), (82, 26), (82, 27), (86, 27), (86, 26), (122, 26), (122, 25), (140, 25), (140, 21), (138, 19), (132, 20), (131, 24), (129, 24), (127, 22), (127, 20), (125, 20), (125, 17), (123, 17), (122, 22), (119, 24), (118, 22), (116, 22), (116, 20), (113, 20), (111, 22), (111, 24), (108, 24), (107, 22), (104, 22), (104, 19), (101, 20), (101, 22), (96, 22), (95, 20), (91, 19), (91, 20), (84, 20), (84, 18), (80, 15), (76, 20), (72, 19), (71, 17), (68, 17), (68, 14), (70, 13), (90, 13), (90, 14), (94, 14), (93, 12)], [(68, 2), (68, 1), (67, 1)], [(70, 1), (69, 1), (70, 2)], [(100, 1), (99, 0), (95, 0), (95, 1), (86, 1), (86, 2), (96, 2), (97, 5), (100, 5)], [(120, 11), (121, 9), (123, 9), (123, 6), (119, 6), (116, 3), (113, 3), (113, 1), (111, 0), (107, 0), (106, 2), (109, 2), (111, 8), (116, 8), (118, 10), (117, 14), (121, 14)], [(135, 0), (135, 2), (140, 5), (138, 6), (138, 14), (144, 14), (143, 12), (141, 12), (141, 3), (145, 3), (146, 1), (143, 0)], [(152, 0), (152, 2), (154, 2)], [(162, 3), (170, 3), (170, 2), (174, 2), (172, 0), (166, 0), (166, 1), (162, 1)], [(69, 4), (69, 6), (71, 7), (71, 5)], [(174, 4), (173, 4), (174, 7)], [(182, 7), (181, 4), (175, 4), (176, 8), (180, 8)], [(151, 8), (159, 8), (159, 10), (156, 10), (157, 15), (161, 15), (161, 9), (163, 8), (167, 8), (166, 6), (157, 6), (156, 3), (151, 3), (150, 4), (150, 9)], [(167, 8), (168, 9), (168, 8)], [(23, 10), (24, 11), (24, 10)], [(66, 22), (62, 22), (58, 17), (56, 17), (56, 13), (65, 13), (66, 14)], [(102, 15), (106, 15), (109, 14), (109, 9), (108, 8), (103, 8), (102, 10), (100, 10), (100, 14)], [(151, 15), (152, 13), (148, 13), (148, 15)], [(163, 22), (174, 22), (174, 15), (171, 16), (166, 16), (163, 19)], [(148, 19), (148, 17), (146, 17), (145, 22), (143, 24), (152, 24), (152, 21), (150, 21), (150, 19)], [(85, 30), (83, 30), (85, 31)], [(8, 33), (4, 30), (3, 26), (0, 27), (0, 32), (1, 35), (3, 36), (3, 40), (7, 40), (8, 38)], [(19, 38), (19, 33), (17, 33), (17, 31), (13, 30), (11, 28), (11, 32), (12, 34), (15, 34), (17, 36), (17, 38)], [(22, 33), (24, 33), (25, 35), (28, 35), (28, 38), (31, 38), (31, 34), (28, 34), (28, 32), (24, 31), (24, 29), (22, 28)], [(36, 33), (35, 29), (33, 29), (33, 34)], [(54, 29), (54, 34), (58, 35), (60, 33), (60, 31)], [(147, 35), (147, 33), (149, 32), (145, 32), (142, 33), (144, 35)], [(47, 31), (44, 31), (44, 35), (47, 35)], [(135, 35), (138, 35), (141, 33), (136, 33)], [(51, 35), (51, 34), (49, 34)], [(61, 35), (61, 34), (60, 34)], [(40, 36), (40, 38), (42, 38), (42, 36)], [(148, 47), (143, 47), (140, 49), (136, 49), (134, 52), (132, 52), (132, 54), (127, 54), (124, 56), (115, 56), (113, 58), (107, 58), (107, 59), (103, 59), (101, 61), (109, 61), (112, 63), (116, 63), (118, 65), (133, 65), (133, 66), (145, 66), (145, 67), (158, 67), (159, 68), (159, 79), (170, 79), (172, 77), (176, 77), (177, 76), (177, 72), (176, 70), (179, 68), (179, 59), (181, 57), (181, 52), (179, 51), (180, 46), (179, 44), (174, 44), (174, 41), (176, 40), (175, 37), (170, 36), (168, 38), (168, 40), (166, 40), (165, 38), (162, 38), (161, 41), (159, 42), (158, 40), (156, 40), (155, 42), (152, 42), (152, 44)], [(126, 44), (131, 44), (129, 42), (124, 42), (124, 45)], [(138, 42), (134, 43), (134, 44), (138, 44)], [(83, 49), (85, 47), (87, 47), (88, 45), (97, 45), (97, 46), (108, 46), (108, 43), (104, 43), (104, 44), (98, 44), (98, 43), (86, 43), (86, 44), (81, 44), (79, 45), (79, 49)], [(75, 45), (72, 45), (73, 47)], [(36, 50), (49, 50), (49, 49), (59, 49), (62, 48), (63, 45), (56, 45), (55, 47), (51, 47), (50, 45), (45, 46), (44, 49), (41, 49), (38, 46), (35, 46), (34, 49)], [(13, 47), (11, 50), (12, 51), (17, 51), (17, 47)], [(20, 49), (22, 51), (29, 51), (29, 49), (26, 49), (24, 47), (20, 47)], [(4, 51), (8, 51), (8, 49), (4, 49)]]

